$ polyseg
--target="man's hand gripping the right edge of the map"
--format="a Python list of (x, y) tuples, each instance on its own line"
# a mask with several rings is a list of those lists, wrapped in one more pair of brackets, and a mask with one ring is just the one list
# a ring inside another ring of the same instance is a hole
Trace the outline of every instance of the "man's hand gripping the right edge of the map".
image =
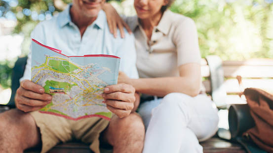
[(104, 88), (102, 97), (111, 112), (115, 113), (119, 118), (124, 118), (134, 108), (135, 89), (127, 84), (110, 85)]

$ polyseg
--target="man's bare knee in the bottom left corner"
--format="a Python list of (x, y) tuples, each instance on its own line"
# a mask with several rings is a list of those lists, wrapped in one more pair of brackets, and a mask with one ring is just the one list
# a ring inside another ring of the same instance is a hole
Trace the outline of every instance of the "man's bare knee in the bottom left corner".
[(23, 153), (41, 143), (33, 117), (20, 110), (0, 114), (0, 131), (0, 153)]

